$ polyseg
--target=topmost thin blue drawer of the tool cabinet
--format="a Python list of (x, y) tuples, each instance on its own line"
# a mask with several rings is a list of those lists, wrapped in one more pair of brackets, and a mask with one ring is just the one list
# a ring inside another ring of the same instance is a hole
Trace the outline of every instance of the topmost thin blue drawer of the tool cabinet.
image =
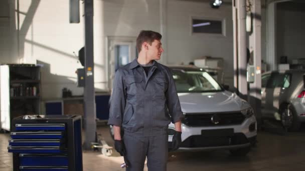
[(65, 130), (64, 123), (17, 123), (16, 130)]

